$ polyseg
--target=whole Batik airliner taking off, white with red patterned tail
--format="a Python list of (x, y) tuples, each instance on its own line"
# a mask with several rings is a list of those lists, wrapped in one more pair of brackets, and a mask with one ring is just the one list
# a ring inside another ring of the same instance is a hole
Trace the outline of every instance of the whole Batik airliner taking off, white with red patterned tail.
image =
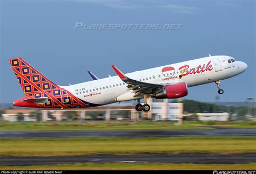
[[(116, 76), (69, 86), (60, 86), (39, 73), (22, 58), (9, 60), (23, 91), (24, 98), (14, 106), (35, 108), (86, 108), (114, 102), (137, 100), (135, 109), (148, 112), (147, 99), (177, 99), (188, 94), (188, 87), (220, 81), (241, 74), (247, 64), (226, 55), (179, 62), (124, 74), (116, 66)], [(140, 100), (144, 99), (144, 105)]]

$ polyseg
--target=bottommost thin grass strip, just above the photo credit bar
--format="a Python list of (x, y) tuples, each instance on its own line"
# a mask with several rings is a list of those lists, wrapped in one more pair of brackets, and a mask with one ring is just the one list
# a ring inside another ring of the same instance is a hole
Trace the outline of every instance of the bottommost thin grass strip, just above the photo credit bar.
[(86, 163), (41, 166), (0, 166), (1, 170), (256, 170), (246, 164), (172, 164), (172, 163)]

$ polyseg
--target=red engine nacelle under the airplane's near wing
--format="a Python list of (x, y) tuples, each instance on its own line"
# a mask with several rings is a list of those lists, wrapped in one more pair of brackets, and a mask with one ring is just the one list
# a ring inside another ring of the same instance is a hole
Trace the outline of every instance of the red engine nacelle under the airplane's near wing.
[(177, 99), (187, 95), (186, 82), (165, 86), (161, 92), (156, 93), (156, 99)]

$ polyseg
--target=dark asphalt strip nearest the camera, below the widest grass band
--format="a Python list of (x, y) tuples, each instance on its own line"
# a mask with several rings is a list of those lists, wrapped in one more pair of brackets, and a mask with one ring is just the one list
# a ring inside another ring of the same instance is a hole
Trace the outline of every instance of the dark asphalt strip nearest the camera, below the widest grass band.
[(68, 163), (195, 163), (195, 164), (235, 164), (255, 163), (256, 153), (246, 154), (211, 154), (211, 153), (181, 153), (181, 154), (134, 154), (134, 155), (82, 155), (54, 157), (13, 157), (0, 156), (0, 166), (53, 165)]

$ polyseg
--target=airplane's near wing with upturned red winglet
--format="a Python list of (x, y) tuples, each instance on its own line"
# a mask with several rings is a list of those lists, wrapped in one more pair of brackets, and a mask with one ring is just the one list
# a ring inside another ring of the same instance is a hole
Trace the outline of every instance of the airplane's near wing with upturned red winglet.
[(164, 86), (172, 85), (173, 83), (177, 83), (181, 81), (180, 79), (177, 79), (177, 80), (174, 80), (172, 83), (142, 82), (142, 81), (130, 79), (114, 65), (112, 65), (112, 68), (117, 73), (119, 78), (128, 84), (126, 91), (132, 90), (132, 93), (134, 93), (133, 96), (137, 96), (140, 94), (154, 94), (160, 91), (160, 89), (163, 88)]

